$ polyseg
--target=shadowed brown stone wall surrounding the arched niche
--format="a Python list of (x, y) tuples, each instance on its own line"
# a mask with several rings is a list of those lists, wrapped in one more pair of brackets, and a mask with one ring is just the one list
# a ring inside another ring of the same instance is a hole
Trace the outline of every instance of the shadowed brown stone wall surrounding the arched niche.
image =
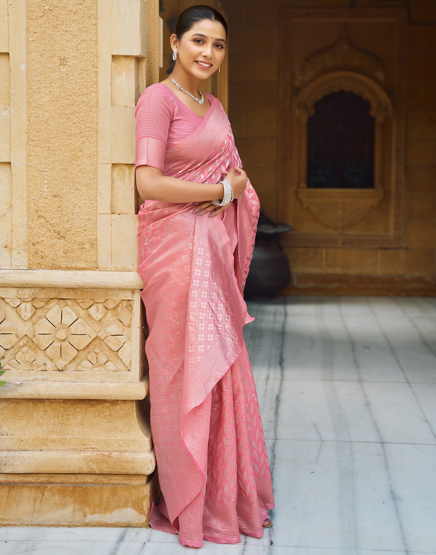
[[(291, 261), (293, 281), (286, 291), (293, 294), (433, 295), (436, 291), (435, 3), (431, 0), (410, 0), (408, 3), (395, 0), (271, 0), (266, 8), (264, 2), (251, 0), (227, 1), (224, 6), (230, 25), (229, 116), (236, 145), (260, 196), (262, 208), (272, 218), (281, 219), (283, 196), (278, 170), (283, 113), (279, 107), (282, 77), (279, 62), (295, 56), (295, 47), (292, 37), (288, 44), (280, 43), (280, 9), (308, 9), (308, 12), (326, 8), (343, 8), (349, 12), (353, 9), (403, 10), (407, 22), (404, 60), (407, 98), (398, 233), (388, 230), (385, 239), (378, 244), (363, 240), (357, 244), (359, 235), (363, 235), (363, 224), (359, 224), (361, 228), (356, 226), (344, 233), (336, 233), (336, 244), (328, 245), (326, 237), (330, 236), (331, 230), (318, 225), (315, 219), (310, 223), (306, 216), (303, 230), (302, 220), (291, 210), (293, 215), (288, 223), (295, 229), (283, 237), (283, 243)], [(371, 33), (368, 36), (371, 38)], [(383, 35), (374, 33), (371, 40), (371, 49), (383, 56)], [(354, 33), (352, 41), (359, 43), (358, 32)], [(299, 39), (297, 48), (312, 44), (313, 48), (308, 51), (320, 48), (316, 38), (308, 33)], [(323, 46), (328, 46), (328, 41)], [(395, 60), (387, 62), (388, 68), (396, 63)], [(296, 186), (292, 178), (288, 186)], [(383, 203), (378, 210), (383, 210)], [(373, 210), (368, 216), (368, 226), (371, 218), (374, 226), (381, 226), (383, 221), (377, 223), (377, 217), (377, 210)], [(386, 224), (388, 218), (389, 213)], [(312, 244), (307, 244), (308, 241), (302, 244), (298, 239), (303, 231), (306, 233), (307, 226), (312, 226), (309, 229)], [(341, 238), (347, 238), (347, 234), (348, 238), (349, 235), (356, 236), (355, 244), (347, 245), (346, 240), (342, 245), (338, 244)]]

